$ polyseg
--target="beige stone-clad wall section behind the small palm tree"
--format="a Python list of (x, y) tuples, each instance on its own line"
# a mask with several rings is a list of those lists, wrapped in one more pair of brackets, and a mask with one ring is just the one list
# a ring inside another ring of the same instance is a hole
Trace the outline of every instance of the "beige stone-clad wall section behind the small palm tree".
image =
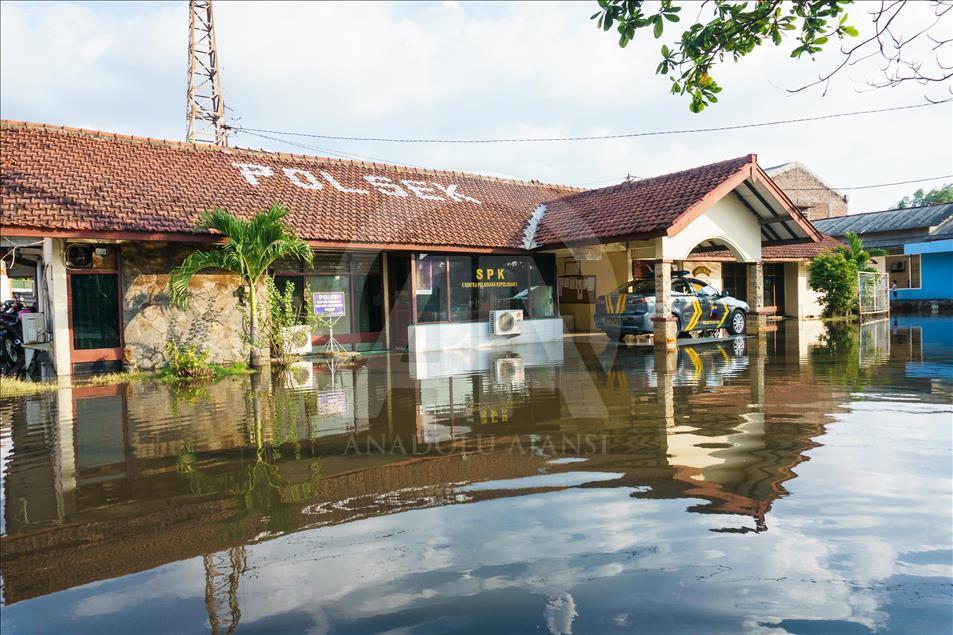
[(122, 245), (122, 313), (126, 356), (137, 368), (165, 365), (164, 347), (174, 340), (196, 344), (209, 359), (230, 363), (246, 357), (239, 280), (223, 273), (199, 274), (189, 287), (189, 306), (172, 305), (169, 271), (192, 247), (170, 243)]

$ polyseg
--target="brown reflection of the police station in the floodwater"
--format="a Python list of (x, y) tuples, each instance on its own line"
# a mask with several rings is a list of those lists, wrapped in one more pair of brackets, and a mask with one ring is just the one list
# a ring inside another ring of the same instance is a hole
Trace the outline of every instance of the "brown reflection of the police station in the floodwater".
[[(212, 630), (232, 632), (247, 544), (575, 486), (685, 499), (688, 511), (732, 523), (712, 531), (768, 531), (855, 375), (915, 358), (914, 331), (883, 322), (831, 335), (794, 323), (670, 354), (580, 339), (6, 404), (4, 599), (200, 556)], [(855, 356), (838, 377), (811, 363), (830, 347)], [(599, 478), (496, 485), (560, 472)], [(571, 623), (572, 596), (547, 611)]]

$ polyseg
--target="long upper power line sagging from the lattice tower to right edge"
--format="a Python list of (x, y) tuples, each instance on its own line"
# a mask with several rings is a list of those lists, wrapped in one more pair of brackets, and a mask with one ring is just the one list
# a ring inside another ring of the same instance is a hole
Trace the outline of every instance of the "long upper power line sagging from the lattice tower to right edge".
[(923, 104), (909, 104), (906, 106), (893, 106), (890, 108), (877, 108), (872, 110), (855, 110), (852, 112), (841, 112), (833, 113), (829, 115), (817, 115), (814, 117), (799, 117), (796, 119), (778, 119), (776, 121), (762, 121), (758, 123), (746, 123), (746, 124), (735, 124), (732, 126), (715, 126), (711, 128), (686, 128), (682, 130), (655, 130), (650, 132), (629, 132), (629, 133), (620, 133), (620, 134), (608, 134), (608, 135), (591, 135), (591, 136), (575, 136), (575, 137), (527, 137), (527, 138), (501, 138), (501, 139), (435, 139), (435, 138), (401, 138), (401, 137), (351, 137), (344, 135), (325, 135), (325, 134), (312, 134), (307, 132), (291, 132), (291, 131), (282, 131), (282, 130), (267, 130), (263, 128), (246, 128), (242, 126), (229, 126), (232, 130), (237, 130), (239, 132), (247, 133), (267, 133), (267, 134), (277, 134), (277, 135), (286, 135), (292, 137), (309, 137), (312, 139), (328, 139), (334, 141), (374, 141), (381, 143), (540, 143), (540, 142), (555, 142), (555, 141), (604, 141), (609, 139), (631, 139), (635, 137), (658, 137), (664, 135), (678, 135), (678, 134), (697, 134), (700, 132), (723, 132), (728, 130), (742, 130), (746, 128), (764, 128), (768, 126), (781, 126), (792, 123), (804, 123), (807, 121), (820, 121), (824, 119), (838, 119), (843, 117), (855, 117), (858, 115), (871, 115), (875, 113), (882, 112), (896, 112), (900, 110), (911, 110), (914, 108), (926, 108), (929, 106), (937, 106), (939, 104), (946, 104), (953, 101), (953, 99), (944, 99), (942, 101), (927, 102)]

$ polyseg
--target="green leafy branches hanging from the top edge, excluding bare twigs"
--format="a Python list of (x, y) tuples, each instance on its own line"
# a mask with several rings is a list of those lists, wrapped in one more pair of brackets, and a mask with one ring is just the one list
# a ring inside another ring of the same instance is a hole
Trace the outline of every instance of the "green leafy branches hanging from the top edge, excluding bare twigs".
[[(605, 31), (615, 26), (622, 47), (644, 29), (651, 28), (659, 39), (667, 23), (681, 20), (682, 7), (674, 0), (651, 3), (651, 7), (644, 0), (598, 1), (599, 11), (592, 19)], [(721, 86), (711, 71), (726, 57), (737, 62), (757, 46), (766, 42), (780, 46), (787, 37), (794, 38), (791, 57), (813, 56), (832, 38), (855, 37), (857, 29), (847, 24), (844, 13), (850, 1), (713, 0), (709, 6), (714, 14), (707, 22), (692, 24), (678, 40), (662, 45), (655, 72), (672, 82), (672, 94), (691, 98), (692, 112), (701, 112), (718, 101)]]

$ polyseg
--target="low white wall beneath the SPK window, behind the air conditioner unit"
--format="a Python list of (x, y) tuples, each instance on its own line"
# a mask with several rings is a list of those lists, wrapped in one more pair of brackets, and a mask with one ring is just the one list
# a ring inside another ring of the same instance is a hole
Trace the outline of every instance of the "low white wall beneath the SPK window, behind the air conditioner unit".
[(490, 335), (489, 321), (412, 324), (407, 332), (410, 352), (503, 348), (562, 340), (563, 321), (559, 317), (523, 320), (523, 332), (513, 336)]

